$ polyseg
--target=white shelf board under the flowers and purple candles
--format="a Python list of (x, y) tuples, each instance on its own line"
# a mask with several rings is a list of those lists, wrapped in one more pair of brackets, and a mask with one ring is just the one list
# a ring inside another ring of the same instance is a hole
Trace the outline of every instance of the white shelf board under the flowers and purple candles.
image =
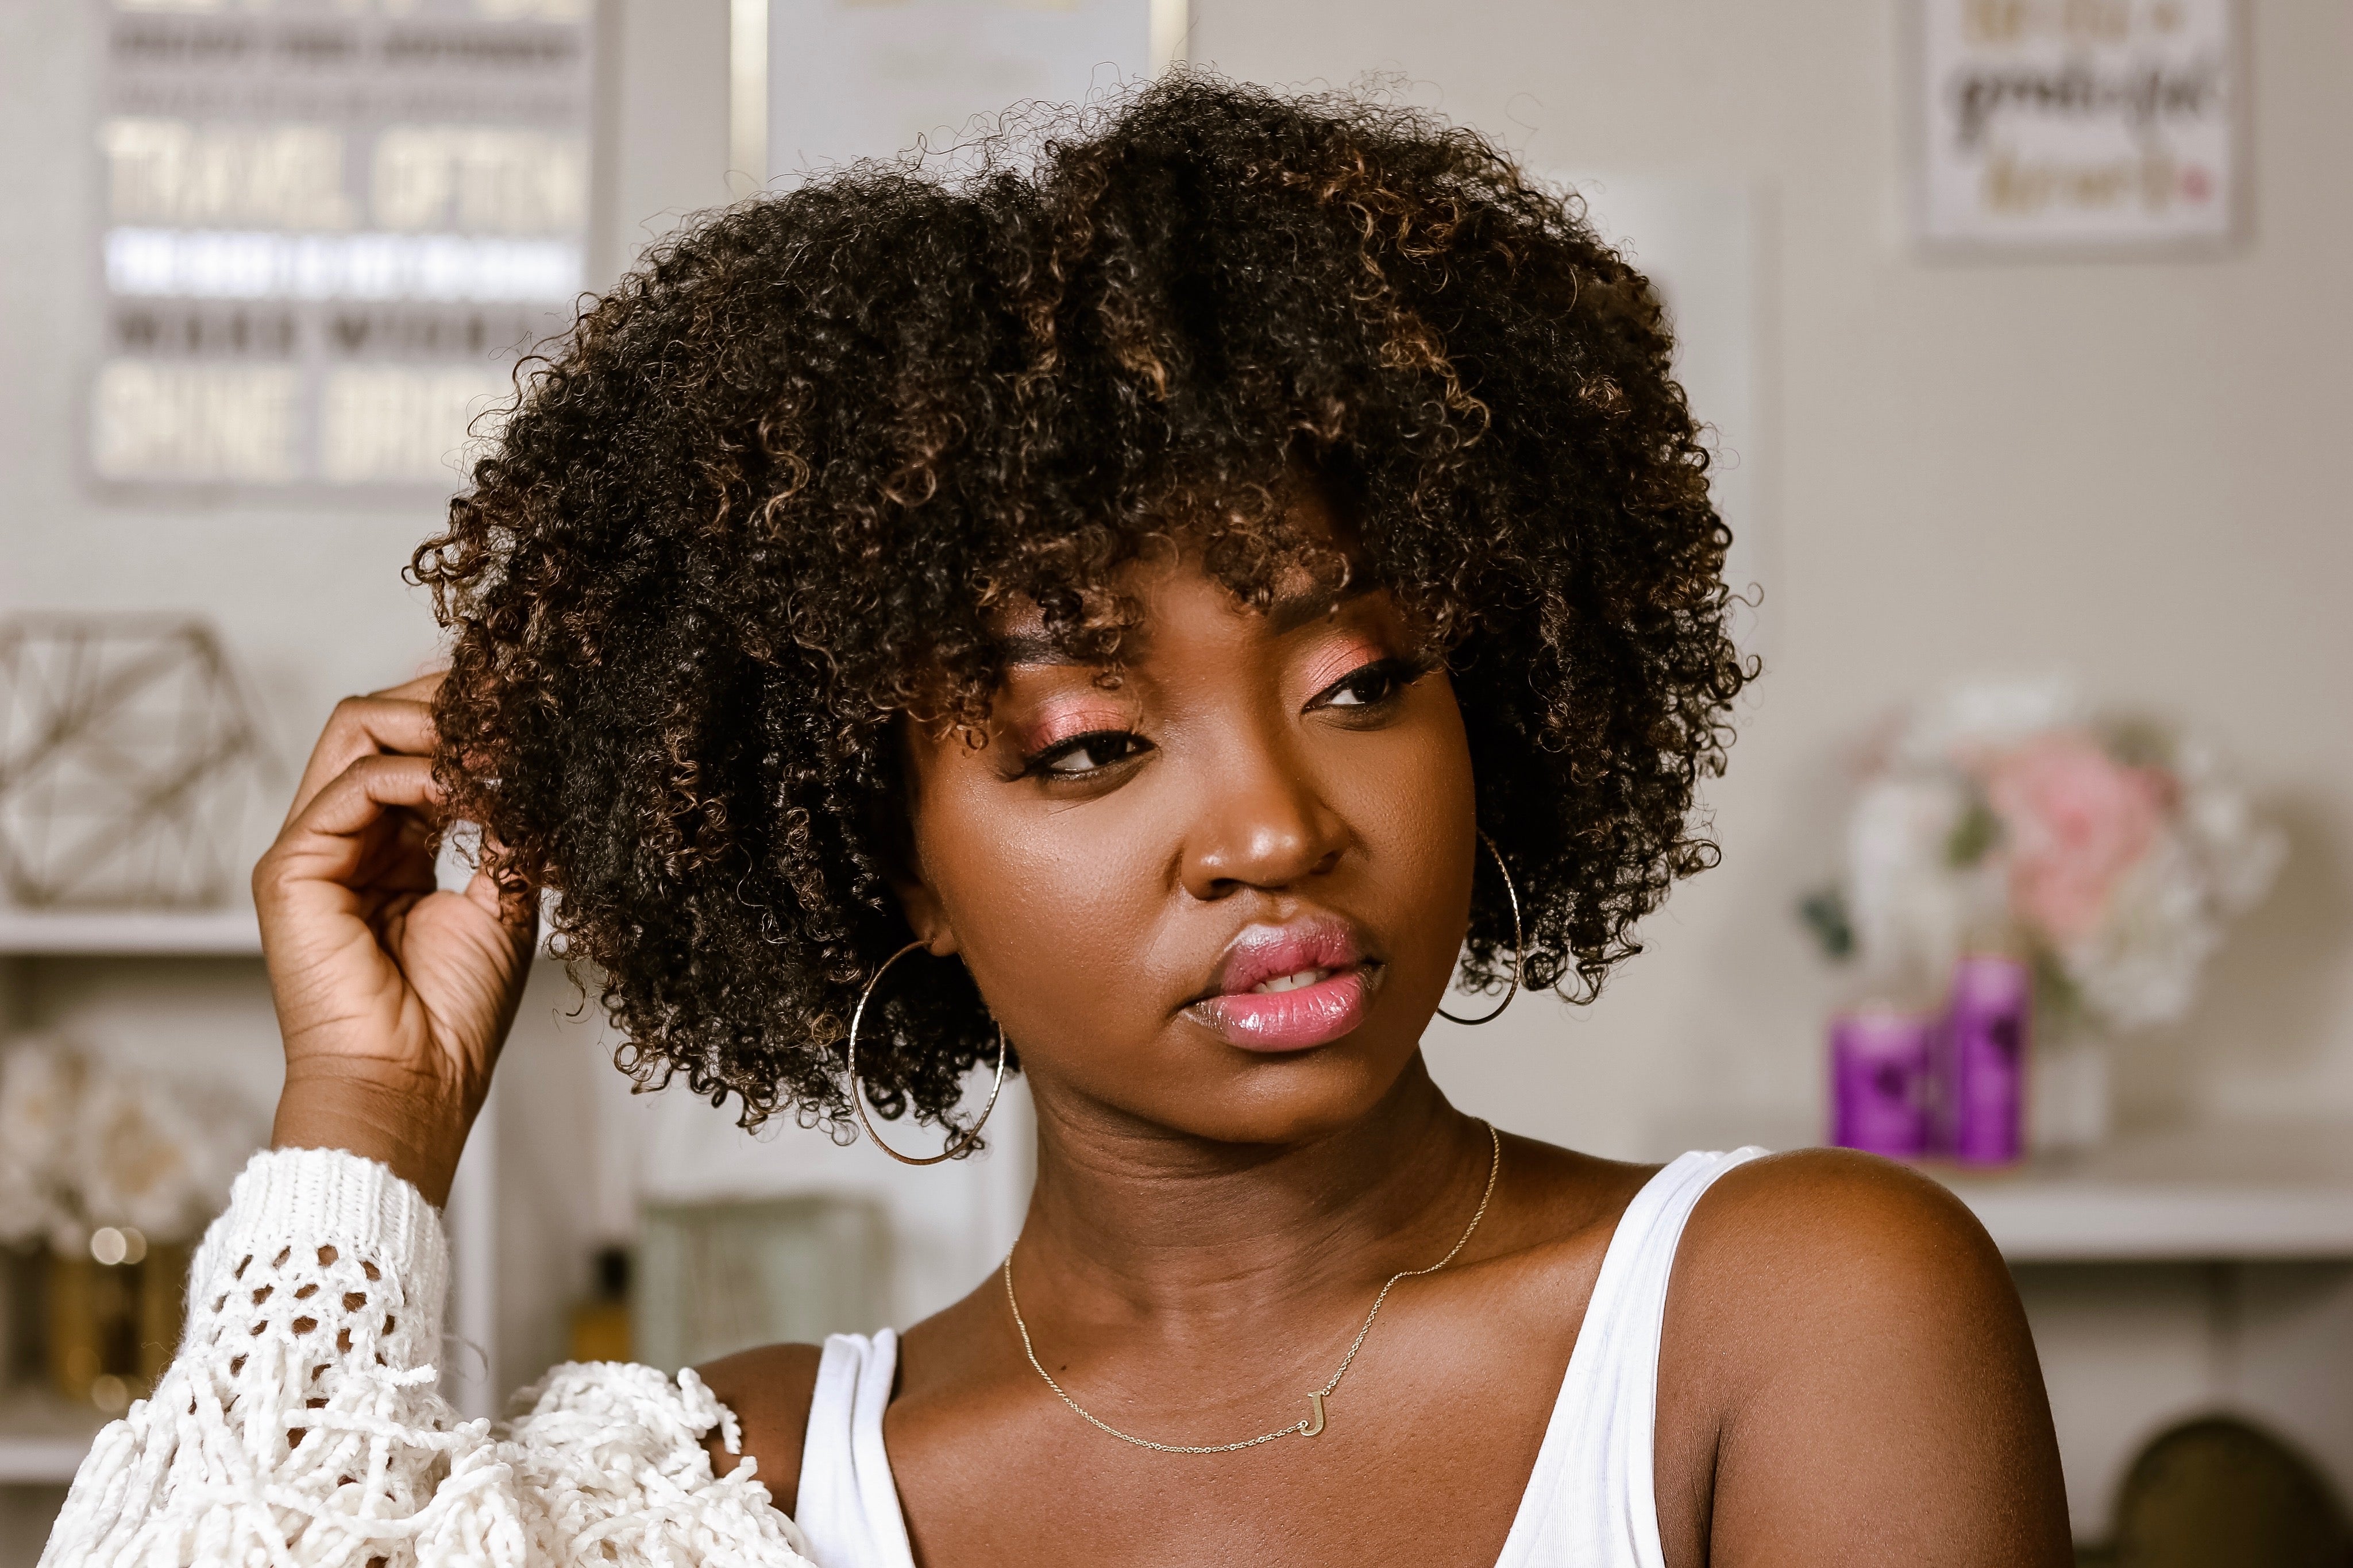
[(2012, 1262), (2353, 1258), (2353, 1128), (2184, 1128), (2080, 1159), (1929, 1175)]

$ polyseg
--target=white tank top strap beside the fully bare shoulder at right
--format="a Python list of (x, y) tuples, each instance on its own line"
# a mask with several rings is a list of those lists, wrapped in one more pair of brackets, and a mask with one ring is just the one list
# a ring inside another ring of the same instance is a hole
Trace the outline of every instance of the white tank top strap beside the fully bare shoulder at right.
[(1497, 1568), (1666, 1568), (1654, 1467), (1675, 1244), (1715, 1178), (1762, 1152), (1682, 1154), (1626, 1204)]

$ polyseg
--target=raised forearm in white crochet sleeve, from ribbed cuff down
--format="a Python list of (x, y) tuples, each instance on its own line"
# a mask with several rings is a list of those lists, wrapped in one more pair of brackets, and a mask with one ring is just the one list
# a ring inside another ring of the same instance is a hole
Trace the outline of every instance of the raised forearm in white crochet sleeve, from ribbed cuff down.
[(487, 1448), (433, 1387), (445, 1286), (416, 1187), (346, 1154), (256, 1154), (198, 1248), (179, 1356), (99, 1434), (42, 1561), (280, 1561), (306, 1542), (292, 1561), (358, 1566), (384, 1530), (416, 1540), (433, 1472)]

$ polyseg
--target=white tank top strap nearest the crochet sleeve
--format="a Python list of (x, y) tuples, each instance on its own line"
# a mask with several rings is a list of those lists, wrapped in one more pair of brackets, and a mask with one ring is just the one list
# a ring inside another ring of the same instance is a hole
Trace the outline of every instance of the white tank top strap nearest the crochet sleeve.
[(793, 1509), (816, 1568), (915, 1568), (882, 1450), (882, 1408), (896, 1375), (899, 1335), (889, 1328), (826, 1338)]

